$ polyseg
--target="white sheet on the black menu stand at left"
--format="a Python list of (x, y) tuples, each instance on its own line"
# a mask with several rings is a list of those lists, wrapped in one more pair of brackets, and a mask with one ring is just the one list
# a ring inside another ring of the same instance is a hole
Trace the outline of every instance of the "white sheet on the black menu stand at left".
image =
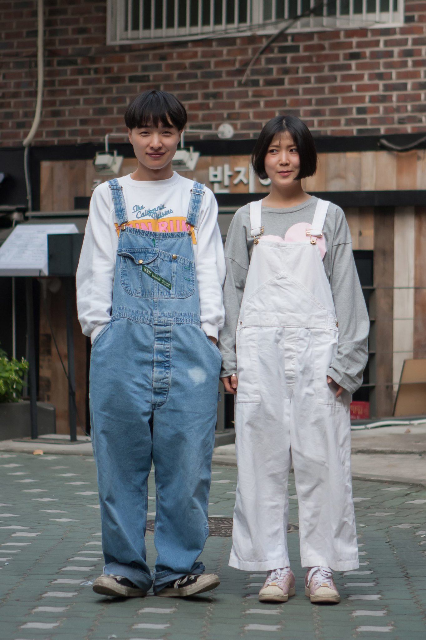
[(72, 224), (18, 225), (0, 246), (0, 276), (47, 276), (47, 236), (78, 234)]

